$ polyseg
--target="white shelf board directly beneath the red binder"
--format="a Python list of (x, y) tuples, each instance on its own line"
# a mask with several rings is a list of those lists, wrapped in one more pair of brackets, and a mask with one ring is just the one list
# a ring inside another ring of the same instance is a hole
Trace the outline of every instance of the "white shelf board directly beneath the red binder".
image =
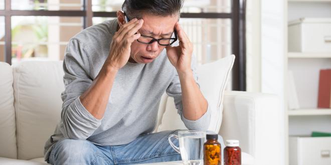
[(294, 109), (288, 110), (289, 116), (295, 115), (331, 115), (330, 108)]

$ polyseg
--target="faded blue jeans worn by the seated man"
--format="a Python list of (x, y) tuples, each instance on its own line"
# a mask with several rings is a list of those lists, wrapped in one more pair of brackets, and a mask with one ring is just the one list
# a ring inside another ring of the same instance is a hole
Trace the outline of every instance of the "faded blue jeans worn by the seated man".
[[(130, 143), (112, 146), (96, 145), (89, 140), (64, 138), (53, 147), (49, 163), (139, 164), (182, 160), (181, 155), (170, 146), (168, 141), (168, 136), (178, 134), (178, 131), (148, 133), (138, 136)], [(179, 146), (178, 140), (173, 142)]]

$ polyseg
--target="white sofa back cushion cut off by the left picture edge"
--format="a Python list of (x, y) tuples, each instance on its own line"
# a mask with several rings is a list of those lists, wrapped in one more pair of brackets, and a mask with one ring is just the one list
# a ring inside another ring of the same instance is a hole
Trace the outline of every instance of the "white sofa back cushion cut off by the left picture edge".
[(16, 125), (13, 91), (13, 70), (5, 62), (0, 62), (0, 156), (16, 158)]

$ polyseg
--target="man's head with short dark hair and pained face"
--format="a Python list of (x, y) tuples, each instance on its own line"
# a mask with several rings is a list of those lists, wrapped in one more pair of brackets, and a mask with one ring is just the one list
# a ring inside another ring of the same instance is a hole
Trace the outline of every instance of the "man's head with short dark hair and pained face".
[[(125, 22), (125, 15), (129, 19), (142, 18), (140, 34), (154, 38), (170, 38), (179, 20), (183, 0), (125, 0), (122, 11), (117, 11), (119, 26)], [(141, 36), (142, 37), (142, 36)], [(130, 62), (149, 63), (165, 48), (157, 41), (149, 44), (134, 41), (131, 44)]]

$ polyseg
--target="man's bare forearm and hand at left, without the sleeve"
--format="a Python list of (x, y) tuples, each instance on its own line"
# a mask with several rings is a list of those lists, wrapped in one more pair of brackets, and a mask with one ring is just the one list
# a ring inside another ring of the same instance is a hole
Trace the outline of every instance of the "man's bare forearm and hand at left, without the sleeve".
[(80, 96), (82, 105), (97, 119), (101, 119), (104, 115), (117, 70), (128, 61), (131, 43), (139, 38), (140, 34), (135, 33), (141, 28), (142, 22), (142, 19), (139, 21), (135, 18), (119, 28), (113, 37), (108, 58), (99, 74), (92, 85)]

